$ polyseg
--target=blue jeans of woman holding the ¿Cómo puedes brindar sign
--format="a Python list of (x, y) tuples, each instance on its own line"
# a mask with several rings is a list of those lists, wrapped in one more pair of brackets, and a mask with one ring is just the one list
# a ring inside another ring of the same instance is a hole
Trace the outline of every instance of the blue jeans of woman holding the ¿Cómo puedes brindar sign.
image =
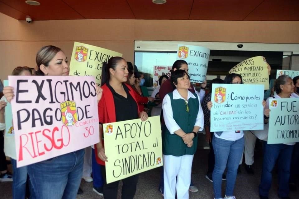
[(215, 198), (222, 198), (222, 174), (224, 173), (226, 165), (227, 174), (225, 195), (233, 196), (237, 170), (244, 148), (244, 137), (236, 141), (229, 141), (215, 137), (214, 135), (212, 145), (215, 153), (215, 167), (212, 175)]

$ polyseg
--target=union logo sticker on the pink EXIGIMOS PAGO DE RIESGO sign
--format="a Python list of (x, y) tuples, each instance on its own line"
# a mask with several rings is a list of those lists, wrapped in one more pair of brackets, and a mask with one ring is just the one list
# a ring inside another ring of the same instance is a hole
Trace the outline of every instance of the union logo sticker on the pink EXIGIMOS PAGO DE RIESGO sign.
[(76, 102), (64, 101), (60, 103), (62, 122), (65, 126), (73, 126), (78, 121)]

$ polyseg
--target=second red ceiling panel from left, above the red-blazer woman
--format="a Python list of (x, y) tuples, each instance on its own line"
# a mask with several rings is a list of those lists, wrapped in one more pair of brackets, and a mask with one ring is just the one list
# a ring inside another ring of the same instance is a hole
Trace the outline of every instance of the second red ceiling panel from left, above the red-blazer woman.
[(126, 0), (63, 1), (87, 19), (135, 19)]

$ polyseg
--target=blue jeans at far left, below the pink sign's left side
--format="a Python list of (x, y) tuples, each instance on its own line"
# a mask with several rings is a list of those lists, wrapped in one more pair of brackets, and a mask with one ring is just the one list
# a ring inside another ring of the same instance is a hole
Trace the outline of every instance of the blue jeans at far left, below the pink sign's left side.
[(23, 199), (26, 197), (27, 166), (17, 168), (17, 160), (12, 159), (12, 198)]

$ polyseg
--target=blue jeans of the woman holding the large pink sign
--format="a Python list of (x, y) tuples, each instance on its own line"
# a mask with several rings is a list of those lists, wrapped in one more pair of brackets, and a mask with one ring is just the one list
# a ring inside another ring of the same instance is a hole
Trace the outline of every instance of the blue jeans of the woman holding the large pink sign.
[(75, 199), (83, 172), (84, 149), (28, 165), (36, 199)]

